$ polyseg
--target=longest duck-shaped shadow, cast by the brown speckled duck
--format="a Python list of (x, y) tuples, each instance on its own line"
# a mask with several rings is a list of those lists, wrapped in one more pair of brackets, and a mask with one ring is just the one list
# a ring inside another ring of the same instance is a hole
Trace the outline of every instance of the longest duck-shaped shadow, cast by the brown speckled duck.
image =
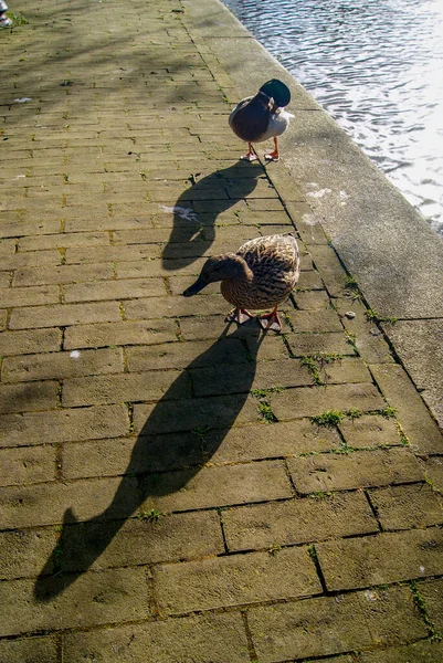
[[(85, 522), (78, 522), (72, 508), (65, 511), (59, 543), (34, 586), (39, 602), (51, 601), (87, 571), (148, 497), (180, 491), (217, 451), (251, 390), (264, 338), (254, 322), (228, 333), (229, 326), (154, 407), (107, 508)], [(234, 387), (229, 377), (233, 368)], [(202, 449), (202, 431), (210, 429), (212, 442)]]

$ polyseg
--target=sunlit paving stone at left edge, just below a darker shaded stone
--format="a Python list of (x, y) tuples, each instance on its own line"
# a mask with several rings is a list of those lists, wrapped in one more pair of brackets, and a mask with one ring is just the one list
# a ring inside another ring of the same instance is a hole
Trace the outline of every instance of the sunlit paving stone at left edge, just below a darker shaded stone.
[(0, 417), (0, 446), (119, 438), (128, 428), (128, 410), (123, 404), (4, 414)]

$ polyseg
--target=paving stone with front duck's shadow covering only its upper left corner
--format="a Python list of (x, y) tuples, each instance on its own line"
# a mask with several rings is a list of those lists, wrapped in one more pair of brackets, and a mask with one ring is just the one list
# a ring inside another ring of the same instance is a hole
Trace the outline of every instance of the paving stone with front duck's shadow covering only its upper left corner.
[(143, 508), (187, 511), (291, 497), (282, 461), (155, 474), (143, 482)]

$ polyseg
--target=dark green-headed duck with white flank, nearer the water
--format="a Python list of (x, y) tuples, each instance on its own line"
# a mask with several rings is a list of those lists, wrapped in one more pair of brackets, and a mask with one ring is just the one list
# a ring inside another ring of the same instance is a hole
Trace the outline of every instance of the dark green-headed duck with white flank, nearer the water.
[(265, 159), (278, 161), (277, 136), (281, 136), (289, 126), (294, 115), (284, 110), (291, 102), (289, 88), (278, 81), (272, 78), (259, 90), (255, 96), (242, 99), (229, 116), (229, 125), (242, 140), (249, 145), (249, 151), (243, 159), (253, 161), (257, 158), (252, 144), (263, 143), (274, 138), (274, 150), (265, 155)]

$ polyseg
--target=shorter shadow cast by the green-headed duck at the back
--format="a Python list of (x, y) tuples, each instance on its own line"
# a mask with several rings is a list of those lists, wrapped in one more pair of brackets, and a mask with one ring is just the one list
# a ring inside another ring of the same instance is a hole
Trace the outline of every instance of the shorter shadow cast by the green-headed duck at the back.
[(201, 179), (193, 176), (173, 206), (173, 228), (162, 252), (166, 270), (177, 270), (201, 257), (215, 239), (215, 221), (255, 189), (264, 171), (260, 164), (239, 159)]

